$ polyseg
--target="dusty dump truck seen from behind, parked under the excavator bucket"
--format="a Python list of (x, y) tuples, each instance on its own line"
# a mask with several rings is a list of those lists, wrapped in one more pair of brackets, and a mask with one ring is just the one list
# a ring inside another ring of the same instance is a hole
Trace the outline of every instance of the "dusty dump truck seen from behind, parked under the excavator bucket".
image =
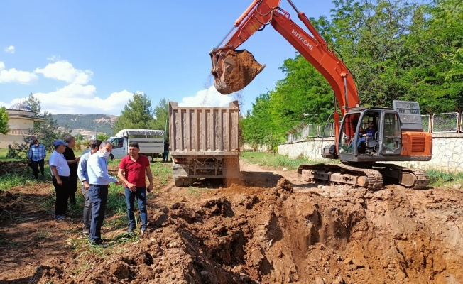
[(169, 102), (169, 142), (175, 185), (197, 178), (239, 180), (239, 105), (179, 107)]

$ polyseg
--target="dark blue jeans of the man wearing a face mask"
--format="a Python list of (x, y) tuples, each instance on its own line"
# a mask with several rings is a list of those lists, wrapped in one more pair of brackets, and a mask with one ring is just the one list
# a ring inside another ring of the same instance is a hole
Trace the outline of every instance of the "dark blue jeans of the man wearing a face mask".
[(104, 211), (108, 200), (108, 185), (90, 185), (89, 199), (92, 202), (92, 222), (90, 223), (90, 241), (102, 241)]

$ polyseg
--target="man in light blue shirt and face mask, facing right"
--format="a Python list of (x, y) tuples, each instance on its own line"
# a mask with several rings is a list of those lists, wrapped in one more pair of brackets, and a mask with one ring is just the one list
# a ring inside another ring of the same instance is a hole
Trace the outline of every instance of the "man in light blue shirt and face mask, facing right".
[(107, 247), (102, 240), (102, 224), (104, 211), (108, 200), (109, 182), (120, 185), (116, 178), (108, 175), (107, 158), (111, 154), (112, 146), (108, 141), (99, 145), (99, 151), (89, 156), (87, 161), (87, 174), (89, 177), (89, 200), (92, 202), (92, 221), (90, 223), (89, 240), (98, 246)]

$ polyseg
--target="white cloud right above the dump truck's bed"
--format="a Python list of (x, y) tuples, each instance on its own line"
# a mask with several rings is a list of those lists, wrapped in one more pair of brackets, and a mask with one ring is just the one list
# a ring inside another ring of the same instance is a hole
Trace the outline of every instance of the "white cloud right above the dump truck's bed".
[(184, 97), (178, 105), (181, 107), (224, 107), (232, 101), (231, 96), (217, 92), (214, 86), (202, 89), (193, 97)]

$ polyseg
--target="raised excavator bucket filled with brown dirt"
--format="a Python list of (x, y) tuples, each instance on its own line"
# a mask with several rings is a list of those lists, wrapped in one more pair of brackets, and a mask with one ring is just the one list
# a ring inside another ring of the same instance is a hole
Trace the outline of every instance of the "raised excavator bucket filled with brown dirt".
[(211, 53), (214, 85), (220, 94), (244, 89), (266, 65), (259, 64), (247, 50)]

